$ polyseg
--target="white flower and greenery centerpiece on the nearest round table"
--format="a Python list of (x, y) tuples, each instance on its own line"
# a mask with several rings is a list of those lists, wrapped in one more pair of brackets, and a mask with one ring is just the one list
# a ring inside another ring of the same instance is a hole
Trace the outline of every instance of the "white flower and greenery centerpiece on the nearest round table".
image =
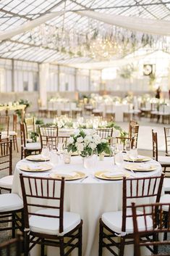
[(95, 131), (77, 131), (69, 137), (67, 146), (68, 152), (77, 152), (82, 157), (93, 155), (96, 149), (98, 154), (103, 152), (111, 154), (109, 142), (106, 139), (101, 139)]

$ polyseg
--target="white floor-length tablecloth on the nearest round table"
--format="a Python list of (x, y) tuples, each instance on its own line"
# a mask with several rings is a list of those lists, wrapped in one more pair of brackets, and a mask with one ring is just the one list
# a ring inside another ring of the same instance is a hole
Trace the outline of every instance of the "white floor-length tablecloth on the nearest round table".
[[(43, 173), (30, 173), (20, 170), (21, 165), (26, 162), (30, 161), (24, 159), (17, 162), (14, 170), (12, 192), (19, 194), (20, 197), (22, 197), (20, 173), (29, 176), (48, 177), (51, 173), (57, 172), (57, 170), (63, 170), (68, 172), (81, 171), (88, 176), (85, 179), (65, 182), (64, 210), (79, 213), (83, 220), (82, 255), (97, 256), (99, 218), (101, 218), (103, 212), (122, 210), (122, 180), (108, 181), (95, 178), (94, 176), (95, 171), (113, 171), (115, 169), (113, 165), (113, 157), (104, 157), (103, 161), (97, 160), (95, 170), (86, 170), (82, 165), (81, 157), (71, 157), (70, 164), (64, 164), (60, 159), (55, 168)], [(128, 173), (129, 178), (161, 175), (161, 165), (154, 160), (150, 159), (147, 164), (146, 162), (142, 162), (140, 165), (152, 165), (156, 167), (156, 170), (140, 173), (132, 173), (131, 171), (125, 170), (124, 165), (126, 163), (127, 162), (124, 161), (123, 165), (119, 166), (119, 170), (122, 170), (123, 173)], [(135, 165), (135, 163), (132, 163), (132, 165)], [(148, 199), (145, 200), (145, 203), (148, 203), (147, 200)], [(48, 256), (56, 255), (56, 247), (48, 247), (47, 250)], [(129, 255), (126, 251), (128, 250), (125, 249), (125, 254)], [(31, 253), (31, 255), (33, 255), (33, 253)], [(36, 253), (36, 256), (37, 255), (38, 254)], [(77, 255), (77, 252), (72, 252), (72, 255)], [(108, 250), (103, 249), (103, 256), (110, 255), (111, 253)]]

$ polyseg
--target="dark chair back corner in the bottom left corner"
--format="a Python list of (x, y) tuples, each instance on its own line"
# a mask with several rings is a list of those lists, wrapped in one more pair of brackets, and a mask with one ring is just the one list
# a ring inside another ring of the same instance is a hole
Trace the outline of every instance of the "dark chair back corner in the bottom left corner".
[(22, 255), (22, 239), (17, 238), (4, 241), (0, 244), (0, 256), (21, 256)]

